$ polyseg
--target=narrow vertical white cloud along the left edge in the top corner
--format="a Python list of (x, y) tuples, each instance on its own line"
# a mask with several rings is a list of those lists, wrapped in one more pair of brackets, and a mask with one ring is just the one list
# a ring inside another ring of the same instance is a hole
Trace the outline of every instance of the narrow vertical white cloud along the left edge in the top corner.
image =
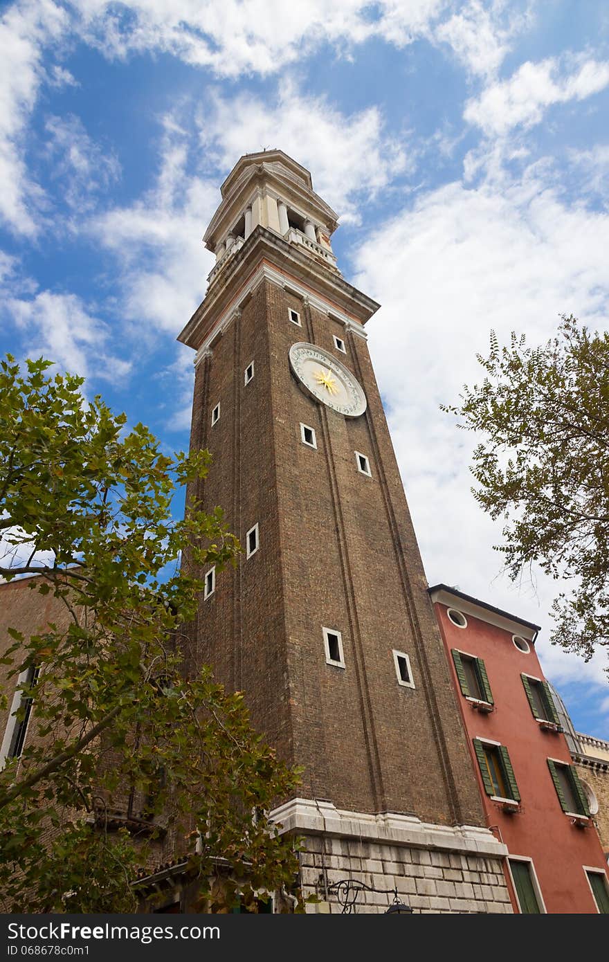
[(60, 38), (66, 13), (51, 0), (24, 0), (0, 20), (0, 217), (16, 233), (37, 233), (41, 191), (25, 161), (25, 130), (41, 82), (42, 48)]

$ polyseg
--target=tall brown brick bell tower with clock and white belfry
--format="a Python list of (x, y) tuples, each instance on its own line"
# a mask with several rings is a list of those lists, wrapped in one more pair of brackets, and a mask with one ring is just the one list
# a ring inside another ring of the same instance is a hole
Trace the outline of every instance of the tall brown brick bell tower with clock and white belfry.
[(509, 910), (368, 355), (378, 304), (344, 280), (337, 215), (283, 151), (241, 157), (221, 196), (179, 341), (196, 351), (190, 444), (214, 455), (196, 495), (243, 554), (201, 572), (195, 657), (304, 766), (277, 818), (307, 837), (302, 884), (330, 911), (346, 876), (415, 909)]

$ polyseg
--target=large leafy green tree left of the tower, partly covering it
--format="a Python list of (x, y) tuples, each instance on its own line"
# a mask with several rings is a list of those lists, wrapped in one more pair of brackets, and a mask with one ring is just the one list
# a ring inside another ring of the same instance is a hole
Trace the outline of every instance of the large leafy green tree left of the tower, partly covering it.
[[(189, 550), (220, 570), (239, 550), (219, 509), (192, 502), (171, 516), (209, 454), (166, 457), (143, 425), (127, 432), (124, 415), (85, 400), (82, 378), (49, 365), (0, 365), (0, 575), (37, 575), (24, 590), (52, 593), (63, 616), (0, 639), (11, 674), (39, 672), (20, 685), (18, 716), (34, 696), (35, 735), (0, 772), (0, 905), (133, 911), (132, 883), (164, 837), (202, 897), (218, 856), (229, 903), (292, 885), (295, 844), (266, 812), (296, 772), (252, 730), (241, 694), (188, 654), (202, 585), (176, 559)], [(116, 831), (126, 797), (140, 823)]]

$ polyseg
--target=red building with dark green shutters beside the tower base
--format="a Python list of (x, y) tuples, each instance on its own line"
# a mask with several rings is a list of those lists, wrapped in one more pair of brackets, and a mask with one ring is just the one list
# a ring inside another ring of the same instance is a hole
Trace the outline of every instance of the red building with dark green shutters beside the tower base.
[(538, 625), (430, 590), (487, 824), (517, 912), (609, 913), (607, 866), (535, 639)]

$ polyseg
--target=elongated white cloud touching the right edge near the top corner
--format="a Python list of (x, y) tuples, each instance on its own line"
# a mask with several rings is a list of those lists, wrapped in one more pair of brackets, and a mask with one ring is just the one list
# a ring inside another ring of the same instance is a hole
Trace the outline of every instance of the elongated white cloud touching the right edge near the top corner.
[(540, 123), (552, 104), (583, 100), (609, 84), (609, 63), (581, 61), (570, 74), (562, 62), (547, 58), (522, 63), (509, 80), (487, 87), (466, 104), (464, 117), (486, 134), (503, 136), (513, 127)]

